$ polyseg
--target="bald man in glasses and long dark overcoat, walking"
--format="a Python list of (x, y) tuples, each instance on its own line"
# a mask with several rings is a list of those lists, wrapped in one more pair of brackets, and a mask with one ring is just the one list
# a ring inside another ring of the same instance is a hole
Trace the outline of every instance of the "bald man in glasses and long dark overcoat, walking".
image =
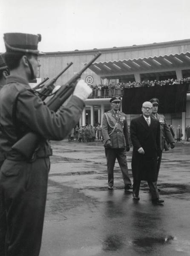
[(152, 195), (152, 201), (161, 204), (164, 200), (159, 198), (157, 186), (157, 159), (160, 154), (160, 124), (150, 116), (153, 105), (144, 102), (142, 113), (138, 118), (132, 119), (130, 136), (133, 145), (132, 176), (133, 198), (139, 200), (141, 180), (147, 180)]

